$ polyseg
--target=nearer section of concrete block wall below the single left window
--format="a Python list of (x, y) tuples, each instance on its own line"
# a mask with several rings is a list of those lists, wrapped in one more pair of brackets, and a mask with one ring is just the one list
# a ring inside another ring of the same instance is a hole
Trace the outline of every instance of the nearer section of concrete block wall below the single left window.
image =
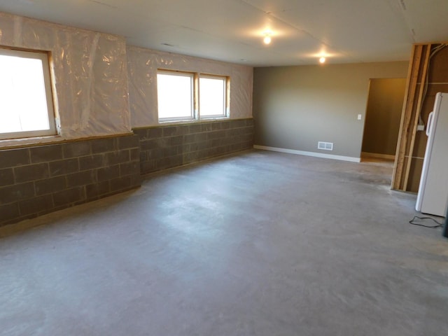
[(135, 135), (0, 150), (0, 226), (137, 188)]

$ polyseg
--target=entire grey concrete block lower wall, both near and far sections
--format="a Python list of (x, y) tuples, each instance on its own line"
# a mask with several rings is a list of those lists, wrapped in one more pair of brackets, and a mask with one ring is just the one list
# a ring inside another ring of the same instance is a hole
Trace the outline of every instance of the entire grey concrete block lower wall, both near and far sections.
[(141, 186), (141, 174), (253, 148), (253, 119), (0, 150), (0, 226)]

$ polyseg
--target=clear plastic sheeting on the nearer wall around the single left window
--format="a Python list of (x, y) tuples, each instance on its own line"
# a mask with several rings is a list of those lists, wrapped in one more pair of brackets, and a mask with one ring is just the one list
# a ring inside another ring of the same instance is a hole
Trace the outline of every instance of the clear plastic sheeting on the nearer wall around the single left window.
[(0, 46), (51, 52), (60, 136), (131, 132), (125, 38), (0, 13)]

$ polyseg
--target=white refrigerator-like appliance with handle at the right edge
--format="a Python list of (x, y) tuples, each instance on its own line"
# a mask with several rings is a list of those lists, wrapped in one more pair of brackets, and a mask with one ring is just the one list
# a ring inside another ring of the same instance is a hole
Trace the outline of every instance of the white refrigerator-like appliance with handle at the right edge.
[(444, 217), (448, 209), (448, 93), (435, 95), (426, 135), (428, 143), (415, 209)]

